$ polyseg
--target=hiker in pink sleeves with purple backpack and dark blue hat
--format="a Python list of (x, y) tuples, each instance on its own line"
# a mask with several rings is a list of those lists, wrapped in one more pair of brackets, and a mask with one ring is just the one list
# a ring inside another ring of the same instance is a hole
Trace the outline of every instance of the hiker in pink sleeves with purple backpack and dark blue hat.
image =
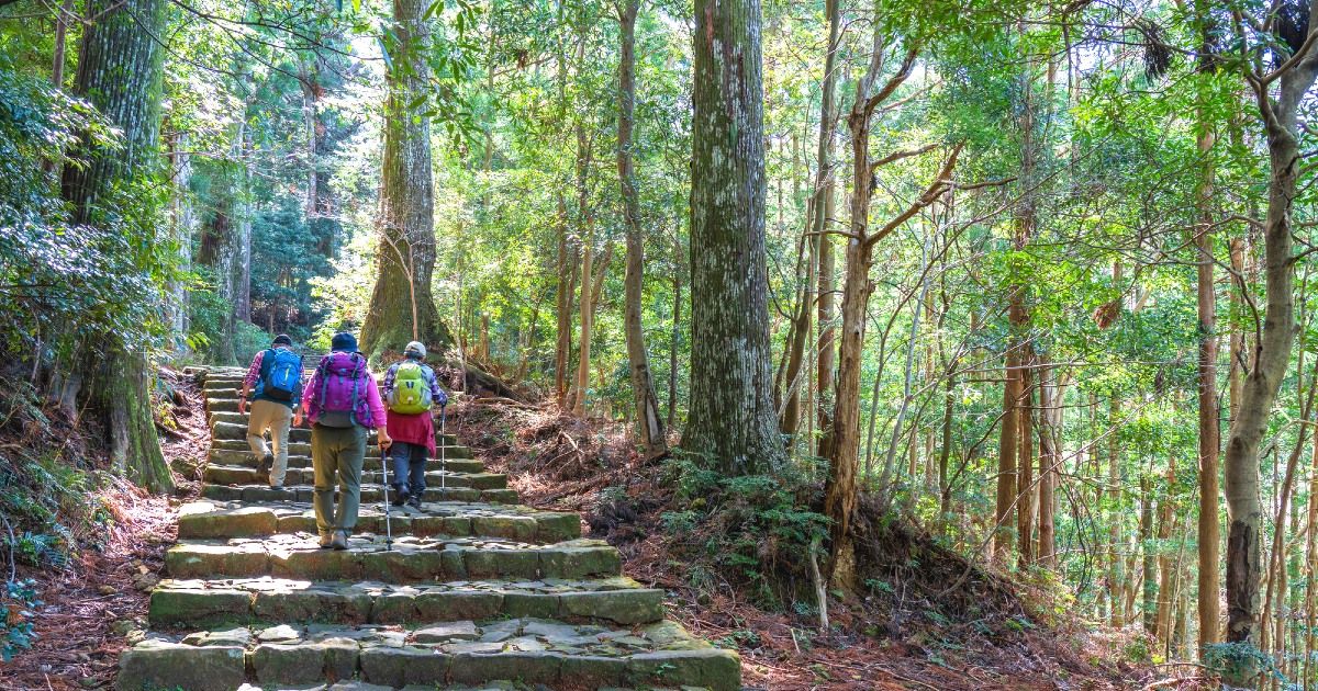
[[(336, 333), (330, 350), (302, 392), (302, 407), (311, 421), (314, 504), (320, 548), (348, 549), (348, 534), (357, 525), (361, 503), (366, 437), (374, 429), (385, 451), (390, 438), (380, 388), (366, 369), (366, 357), (357, 353), (357, 338), (347, 332)], [(294, 422), (302, 424), (301, 413)], [(339, 482), (337, 511), (333, 504), (335, 478)]]

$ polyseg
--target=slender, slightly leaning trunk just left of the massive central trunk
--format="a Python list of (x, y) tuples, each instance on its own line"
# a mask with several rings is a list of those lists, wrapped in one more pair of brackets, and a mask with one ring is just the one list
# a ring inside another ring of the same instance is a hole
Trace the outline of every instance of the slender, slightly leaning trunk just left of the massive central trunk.
[(668, 453), (668, 440), (659, 413), (659, 396), (650, 374), (646, 334), (641, 325), (642, 283), (645, 282), (645, 238), (641, 233), (641, 204), (637, 200), (635, 165), (631, 158), (631, 129), (637, 103), (637, 12), (641, 0), (627, 0), (622, 8), (619, 32), (622, 54), (618, 58), (618, 183), (622, 191), (622, 215), (627, 229), (627, 274), (623, 283), (623, 330), (627, 338), (627, 362), (631, 369), (631, 395), (635, 399), (637, 437), (646, 459)]

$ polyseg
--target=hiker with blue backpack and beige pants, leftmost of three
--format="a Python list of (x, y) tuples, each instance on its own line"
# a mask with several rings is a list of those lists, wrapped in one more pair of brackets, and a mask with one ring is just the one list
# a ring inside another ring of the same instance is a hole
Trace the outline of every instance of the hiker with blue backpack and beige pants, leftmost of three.
[[(250, 396), (250, 399), (249, 399)], [(270, 487), (283, 487), (289, 470), (289, 424), (293, 411), (302, 399), (302, 357), (293, 351), (293, 338), (281, 333), (270, 347), (252, 358), (252, 366), (243, 378), (239, 413), (248, 412), (248, 446), (257, 459), (257, 479)], [(270, 446), (265, 433), (270, 432)]]

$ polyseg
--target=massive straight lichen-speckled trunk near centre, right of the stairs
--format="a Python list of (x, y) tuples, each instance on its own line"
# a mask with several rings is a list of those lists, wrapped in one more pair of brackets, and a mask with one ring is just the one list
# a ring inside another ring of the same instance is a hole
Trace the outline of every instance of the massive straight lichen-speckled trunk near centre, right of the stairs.
[(683, 448), (725, 475), (782, 466), (772, 401), (759, 0), (696, 1), (691, 407)]

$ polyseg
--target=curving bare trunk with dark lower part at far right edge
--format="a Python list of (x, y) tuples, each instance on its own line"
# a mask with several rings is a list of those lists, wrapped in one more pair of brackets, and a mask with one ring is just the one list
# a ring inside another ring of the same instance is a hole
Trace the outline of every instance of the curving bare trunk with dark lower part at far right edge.
[[(1318, 0), (1311, 3), (1306, 34), (1318, 25)], [(1309, 49), (1309, 43), (1305, 43)], [(1231, 424), (1223, 459), (1227, 499), (1227, 641), (1257, 645), (1259, 578), (1261, 573), (1263, 505), (1259, 499), (1259, 445), (1268, 428), (1277, 388), (1285, 378), (1296, 337), (1290, 213), (1296, 197), (1300, 142), (1297, 112), (1318, 76), (1314, 54), (1281, 74), (1277, 99), (1267, 87), (1256, 92), (1268, 142), (1271, 178), (1264, 217), (1264, 280), (1267, 312), (1263, 336), (1255, 345), (1255, 366), (1244, 378), (1240, 409)], [(1253, 683), (1253, 661), (1234, 665), (1224, 680)]]

